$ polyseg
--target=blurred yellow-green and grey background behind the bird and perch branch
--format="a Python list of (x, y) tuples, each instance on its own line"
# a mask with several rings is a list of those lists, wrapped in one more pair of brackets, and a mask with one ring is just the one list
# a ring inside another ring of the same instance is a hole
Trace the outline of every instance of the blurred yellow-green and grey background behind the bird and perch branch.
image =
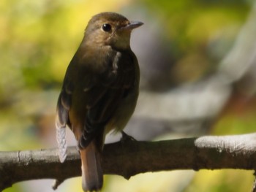
[[(86, 23), (103, 11), (145, 23), (132, 34), (141, 94), (128, 134), (156, 140), (254, 132), (255, 7), (249, 0), (1, 0), (0, 150), (56, 147), (56, 101), (65, 71)], [(209, 87), (223, 71), (227, 85)], [(75, 145), (70, 132), (67, 137)], [(107, 141), (115, 139), (110, 135)], [(173, 171), (128, 181), (107, 175), (102, 191), (250, 191), (252, 174)], [(52, 183), (28, 181), (4, 192), (53, 191)], [(80, 177), (72, 178), (57, 191), (82, 191), (80, 183)]]

